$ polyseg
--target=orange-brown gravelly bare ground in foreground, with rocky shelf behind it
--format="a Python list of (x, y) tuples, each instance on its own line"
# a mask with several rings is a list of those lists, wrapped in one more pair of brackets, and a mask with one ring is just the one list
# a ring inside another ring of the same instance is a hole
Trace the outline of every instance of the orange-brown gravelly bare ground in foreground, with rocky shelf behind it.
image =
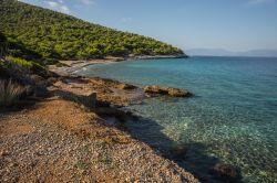
[(142, 97), (140, 90), (133, 94), (100, 78), (61, 79), (49, 90), (52, 97), (24, 110), (0, 112), (0, 182), (198, 182), (107, 125), (98, 109), (61, 95), (93, 92), (101, 103), (124, 106)]

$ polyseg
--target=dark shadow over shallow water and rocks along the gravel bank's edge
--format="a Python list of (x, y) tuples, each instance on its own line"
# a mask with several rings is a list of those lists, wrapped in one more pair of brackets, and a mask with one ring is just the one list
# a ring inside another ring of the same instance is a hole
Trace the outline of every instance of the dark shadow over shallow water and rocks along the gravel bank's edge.
[(140, 141), (147, 143), (160, 155), (174, 161), (193, 173), (201, 182), (233, 183), (240, 182), (238, 168), (222, 163), (219, 159), (205, 152), (206, 144), (199, 142), (179, 143), (163, 133), (163, 127), (156, 121), (138, 117), (124, 123), (126, 131)]

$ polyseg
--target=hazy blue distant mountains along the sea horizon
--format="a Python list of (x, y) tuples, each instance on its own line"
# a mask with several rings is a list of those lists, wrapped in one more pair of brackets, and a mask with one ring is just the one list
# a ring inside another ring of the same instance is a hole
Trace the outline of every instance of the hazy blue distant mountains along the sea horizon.
[(277, 57), (277, 50), (250, 50), (247, 52), (232, 52), (224, 49), (192, 49), (186, 53), (191, 56), (260, 56)]

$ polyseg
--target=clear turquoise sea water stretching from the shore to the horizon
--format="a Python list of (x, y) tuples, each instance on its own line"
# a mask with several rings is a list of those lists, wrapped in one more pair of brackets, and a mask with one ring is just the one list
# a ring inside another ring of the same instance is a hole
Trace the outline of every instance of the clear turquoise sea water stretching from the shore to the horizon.
[(178, 163), (203, 180), (212, 179), (211, 165), (226, 162), (240, 168), (243, 182), (277, 182), (277, 58), (126, 61), (81, 74), (194, 93), (131, 106), (145, 120), (126, 126), (157, 150), (188, 147)]

